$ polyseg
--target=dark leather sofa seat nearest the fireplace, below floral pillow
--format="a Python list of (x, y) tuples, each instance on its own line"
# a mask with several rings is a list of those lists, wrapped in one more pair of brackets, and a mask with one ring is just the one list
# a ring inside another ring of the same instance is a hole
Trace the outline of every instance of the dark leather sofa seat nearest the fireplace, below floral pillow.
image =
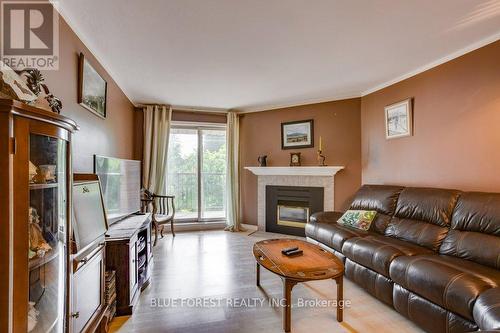
[(336, 251), (342, 252), (342, 245), (353, 237), (366, 237), (374, 233), (349, 228), (337, 223), (340, 212), (322, 212), (313, 214), (306, 224), (306, 236)]

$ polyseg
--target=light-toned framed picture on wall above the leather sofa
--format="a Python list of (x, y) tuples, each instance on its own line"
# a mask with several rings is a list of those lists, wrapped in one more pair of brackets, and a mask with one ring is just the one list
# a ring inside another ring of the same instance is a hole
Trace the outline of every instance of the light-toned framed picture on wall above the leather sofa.
[(397, 102), (385, 107), (386, 139), (402, 138), (412, 135), (412, 99)]

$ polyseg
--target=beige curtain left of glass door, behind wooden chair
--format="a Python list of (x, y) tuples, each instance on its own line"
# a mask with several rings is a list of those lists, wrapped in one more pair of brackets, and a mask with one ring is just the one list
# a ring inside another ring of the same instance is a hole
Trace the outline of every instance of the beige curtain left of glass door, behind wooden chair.
[(165, 195), (167, 151), (172, 108), (148, 105), (144, 108), (143, 185), (149, 191)]

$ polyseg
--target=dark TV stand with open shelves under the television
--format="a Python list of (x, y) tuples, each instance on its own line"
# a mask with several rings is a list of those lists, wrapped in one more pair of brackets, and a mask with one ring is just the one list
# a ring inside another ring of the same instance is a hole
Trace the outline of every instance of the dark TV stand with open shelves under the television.
[(106, 270), (116, 271), (116, 313), (131, 315), (150, 283), (153, 264), (151, 214), (133, 214), (106, 233)]

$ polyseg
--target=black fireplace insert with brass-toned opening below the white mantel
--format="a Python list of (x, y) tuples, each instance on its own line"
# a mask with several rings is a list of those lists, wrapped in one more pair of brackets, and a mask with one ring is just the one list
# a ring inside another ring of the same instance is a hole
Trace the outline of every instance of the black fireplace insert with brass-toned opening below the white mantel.
[(266, 231), (305, 236), (311, 214), (323, 211), (324, 189), (266, 186)]

